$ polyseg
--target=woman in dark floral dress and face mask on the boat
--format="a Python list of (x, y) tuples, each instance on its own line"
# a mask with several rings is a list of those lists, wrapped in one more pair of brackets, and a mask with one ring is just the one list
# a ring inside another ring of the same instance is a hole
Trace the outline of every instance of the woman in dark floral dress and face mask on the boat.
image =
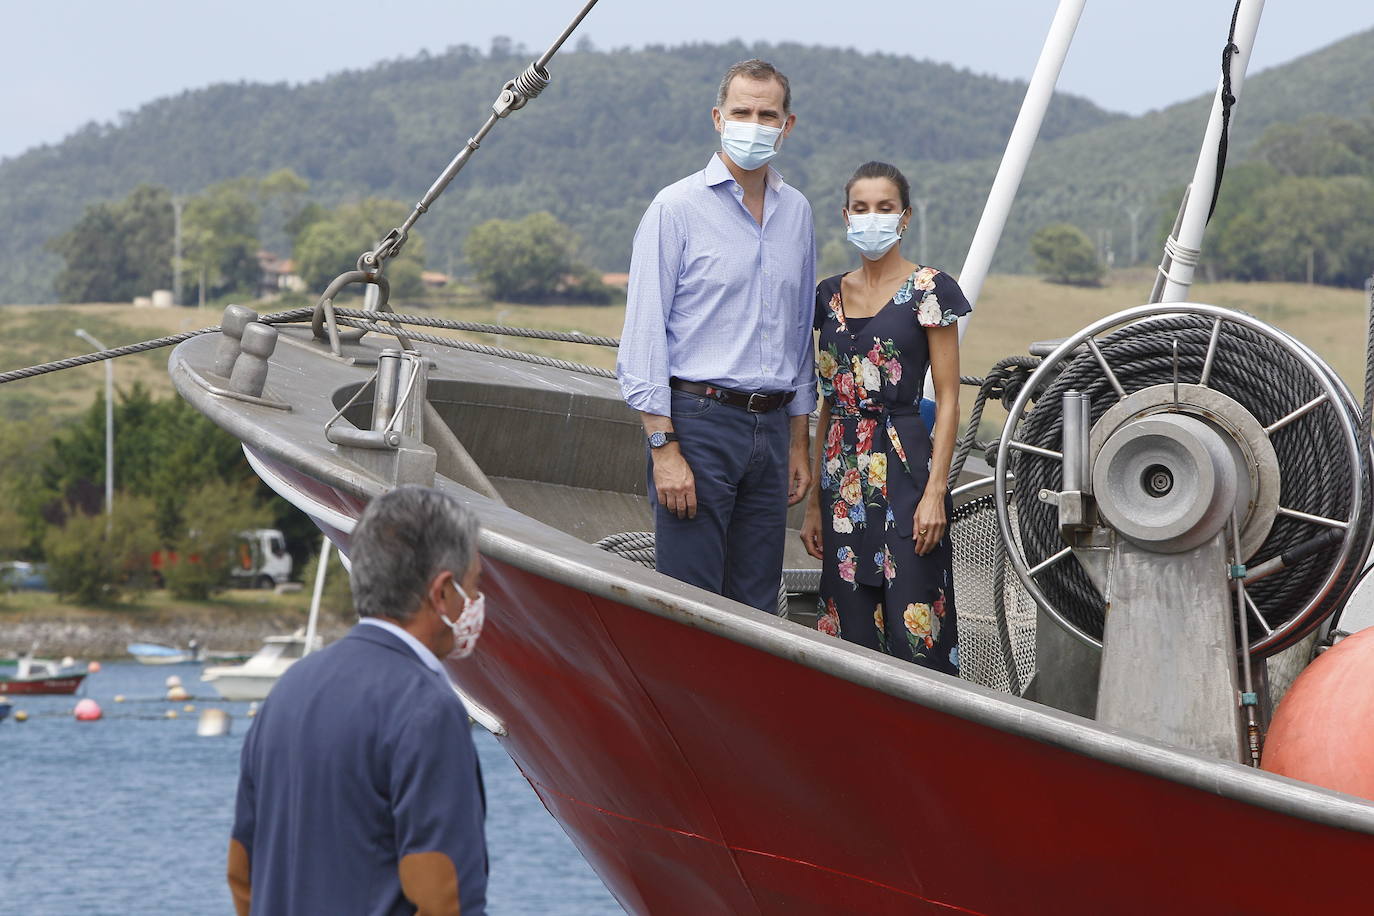
[[(901, 257), (911, 187), (867, 162), (845, 185), (861, 266), (816, 287), (820, 422), (801, 540), (822, 560), (816, 628), (948, 674), (959, 672), (947, 479), (959, 424), (952, 277)], [(921, 416), (926, 369), (936, 420)]]

